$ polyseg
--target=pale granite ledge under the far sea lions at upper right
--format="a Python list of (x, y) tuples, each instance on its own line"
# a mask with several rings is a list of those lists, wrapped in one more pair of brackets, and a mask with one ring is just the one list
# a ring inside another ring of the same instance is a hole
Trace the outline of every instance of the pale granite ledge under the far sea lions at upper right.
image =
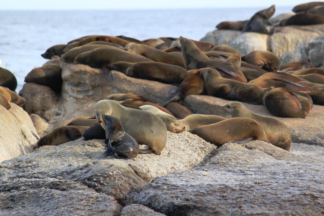
[(324, 24), (311, 26), (275, 27), (271, 35), (237, 30), (214, 30), (208, 32), (201, 41), (215, 45), (227, 44), (242, 54), (253, 50), (270, 50), (281, 57), (285, 53), (307, 46), (310, 39), (324, 35)]

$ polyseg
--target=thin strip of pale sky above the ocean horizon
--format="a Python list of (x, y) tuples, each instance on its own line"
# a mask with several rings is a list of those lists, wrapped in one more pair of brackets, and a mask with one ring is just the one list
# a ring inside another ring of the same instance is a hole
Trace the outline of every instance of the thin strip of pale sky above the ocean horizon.
[(0, 10), (107, 10), (295, 6), (299, 0), (1, 0)]

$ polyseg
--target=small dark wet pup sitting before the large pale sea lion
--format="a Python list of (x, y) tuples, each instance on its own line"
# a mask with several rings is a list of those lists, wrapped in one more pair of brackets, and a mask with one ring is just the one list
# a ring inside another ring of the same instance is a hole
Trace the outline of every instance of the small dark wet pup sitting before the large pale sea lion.
[(101, 115), (106, 126), (107, 149), (98, 158), (113, 155), (118, 159), (134, 158), (138, 155), (139, 148), (137, 141), (126, 133), (121, 125), (121, 120), (112, 115)]

